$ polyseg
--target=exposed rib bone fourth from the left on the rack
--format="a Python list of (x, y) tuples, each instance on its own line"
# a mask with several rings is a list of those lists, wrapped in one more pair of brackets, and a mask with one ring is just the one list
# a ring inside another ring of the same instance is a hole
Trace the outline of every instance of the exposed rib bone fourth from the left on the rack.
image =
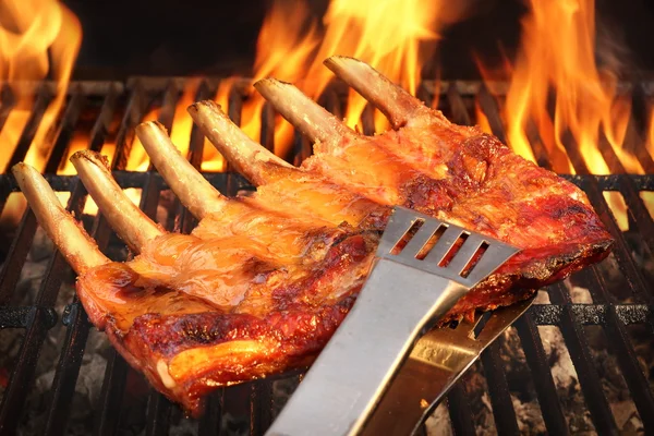
[(289, 171), (298, 171), (252, 141), (214, 101), (195, 102), (189, 107), (189, 113), (218, 152), (252, 183), (266, 184), (289, 174)]

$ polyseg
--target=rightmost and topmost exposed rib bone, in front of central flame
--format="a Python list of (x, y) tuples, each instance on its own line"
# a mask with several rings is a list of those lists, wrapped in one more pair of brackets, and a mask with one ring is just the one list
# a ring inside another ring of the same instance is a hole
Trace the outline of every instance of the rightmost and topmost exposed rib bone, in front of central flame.
[(332, 56), (325, 65), (371, 101), (388, 118), (393, 129), (428, 109), (401, 86), (390, 82), (365, 62), (343, 56)]

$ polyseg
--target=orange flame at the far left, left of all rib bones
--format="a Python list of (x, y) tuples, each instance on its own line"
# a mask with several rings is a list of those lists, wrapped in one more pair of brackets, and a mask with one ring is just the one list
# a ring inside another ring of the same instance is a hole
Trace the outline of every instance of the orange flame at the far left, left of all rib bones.
[[(55, 121), (65, 101), (81, 41), (82, 26), (77, 17), (56, 0), (0, 2), (0, 80), (8, 83), (15, 99), (0, 132), (2, 172), (9, 170), (7, 167), (29, 119), (35, 97), (33, 85), (50, 75), (55, 96), (23, 159), (44, 169), (52, 150)], [(64, 193), (60, 198), (65, 198)], [(22, 196), (10, 196), (1, 220), (15, 221), (24, 208)]]

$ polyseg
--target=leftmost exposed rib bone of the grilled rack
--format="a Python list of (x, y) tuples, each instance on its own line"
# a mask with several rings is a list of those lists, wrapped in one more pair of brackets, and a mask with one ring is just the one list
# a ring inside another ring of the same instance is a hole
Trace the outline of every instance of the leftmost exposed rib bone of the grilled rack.
[(69, 214), (44, 177), (26, 164), (16, 164), (13, 174), (38, 223), (78, 275), (110, 261)]

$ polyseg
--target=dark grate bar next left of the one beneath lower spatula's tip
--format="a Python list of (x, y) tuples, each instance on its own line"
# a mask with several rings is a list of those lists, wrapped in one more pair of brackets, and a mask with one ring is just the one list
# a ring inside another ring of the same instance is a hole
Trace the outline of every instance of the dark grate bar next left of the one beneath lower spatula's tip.
[(509, 392), (507, 376), (504, 372), (504, 364), (499, 358), (499, 343), (493, 342), (482, 353), (482, 364), (491, 393), (491, 405), (493, 407), (493, 417), (499, 435), (518, 435), (518, 420), (513, 401)]

